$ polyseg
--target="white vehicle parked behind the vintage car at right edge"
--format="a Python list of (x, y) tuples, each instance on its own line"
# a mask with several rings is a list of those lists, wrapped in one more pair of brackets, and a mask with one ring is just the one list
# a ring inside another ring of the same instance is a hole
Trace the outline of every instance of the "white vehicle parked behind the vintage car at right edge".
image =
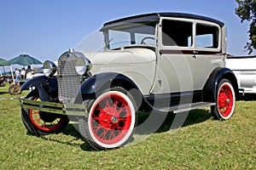
[(256, 94), (256, 56), (229, 56), (226, 66), (234, 71), (241, 94)]

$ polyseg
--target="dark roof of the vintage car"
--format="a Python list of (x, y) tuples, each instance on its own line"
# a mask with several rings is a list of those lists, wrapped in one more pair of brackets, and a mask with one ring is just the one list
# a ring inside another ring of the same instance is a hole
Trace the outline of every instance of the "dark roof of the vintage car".
[(112, 26), (119, 26), (129, 23), (142, 23), (142, 22), (159, 22), (160, 17), (175, 17), (175, 18), (186, 18), (195, 20), (206, 20), (218, 24), (218, 26), (223, 27), (224, 23), (220, 20), (215, 20), (207, 16), (201, 16), (197, 14), (186, 14), (186, 13), (152, 13), (152, 14), (139, 14), (130, 17), (125, 17), (118, 20), (112, 20), (105, 23), (102, 26), (101, 31), (108, 29)]

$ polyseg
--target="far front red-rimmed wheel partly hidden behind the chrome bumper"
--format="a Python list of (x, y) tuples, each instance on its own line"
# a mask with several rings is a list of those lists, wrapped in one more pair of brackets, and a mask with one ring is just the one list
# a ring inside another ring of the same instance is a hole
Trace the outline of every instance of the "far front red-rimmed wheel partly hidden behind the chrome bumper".
[[(38, 90), (33, 90), (26, 99), (38, 100)], [(37, 136), (49, 133), (61, 133), (69, 122), (67, 116), (37, 110), (21, 109), (21, 119), (26, 129)]]

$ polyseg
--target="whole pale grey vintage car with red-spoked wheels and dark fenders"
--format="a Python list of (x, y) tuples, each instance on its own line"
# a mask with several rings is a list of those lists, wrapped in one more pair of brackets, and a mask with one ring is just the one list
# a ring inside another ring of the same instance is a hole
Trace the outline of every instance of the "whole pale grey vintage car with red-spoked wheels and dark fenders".
[(225, 67), (223, 22), (195, 14), (142, 14), (110, 21), (100, 31), (102, 50), (71, 48), (58, 66), (46, 60), (45, 76), (22, 86), (34, 89), (20, 98), (30, 133), (60, 133), (69, 120), (78, 121), (86, 142), (105, 150), (131, 139), (140, 110), (179, 114), (210, 106), (218, 120), (233, 115), (238, 88)]

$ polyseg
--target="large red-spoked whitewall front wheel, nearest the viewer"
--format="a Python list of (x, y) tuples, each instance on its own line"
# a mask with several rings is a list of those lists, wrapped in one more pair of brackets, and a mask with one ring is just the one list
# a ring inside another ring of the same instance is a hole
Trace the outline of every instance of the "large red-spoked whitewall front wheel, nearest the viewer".
[(111, 88), (90, 101), (89, 115), (79, 120), (79, 131), (96, 150), (113, 149), (131, 139), (136, 105), (124, 88)]

